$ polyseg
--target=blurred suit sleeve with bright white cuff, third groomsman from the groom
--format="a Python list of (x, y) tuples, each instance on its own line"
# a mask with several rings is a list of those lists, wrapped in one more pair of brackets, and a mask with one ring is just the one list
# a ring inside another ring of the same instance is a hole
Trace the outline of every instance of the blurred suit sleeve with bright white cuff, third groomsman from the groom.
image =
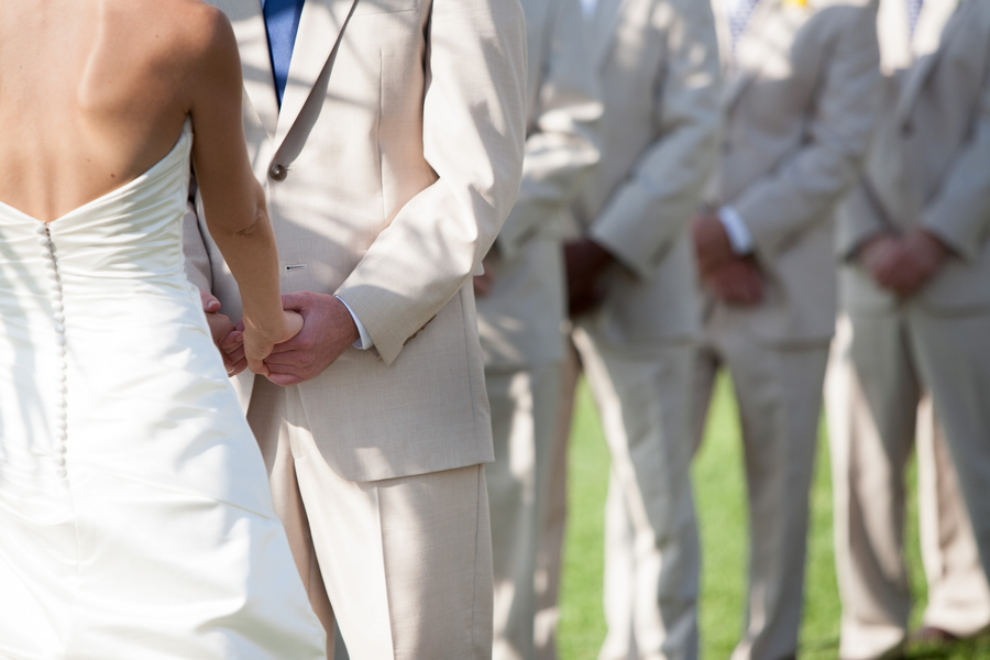
[(831, 221), (829, 209), (859, 173), (879, 102), (876, 8), (849, 11), (847, 19), (831, 44), (807, 144), (732, 202), (757, 255), (768, 261), (813, 226)]

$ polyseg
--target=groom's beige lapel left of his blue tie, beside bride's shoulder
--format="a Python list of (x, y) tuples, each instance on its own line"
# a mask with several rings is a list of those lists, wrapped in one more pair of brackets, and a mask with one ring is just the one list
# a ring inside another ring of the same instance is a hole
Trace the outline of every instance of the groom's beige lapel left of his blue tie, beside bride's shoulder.
[(210, 3), (227, 14), (233, 26), (241, 53), (244, 91), (268, 138), (274, 138), (278, 122), (278, 97), (275, 95), (275, 75), (272, 73), (268, 33), (261, 0), (210, 0)]

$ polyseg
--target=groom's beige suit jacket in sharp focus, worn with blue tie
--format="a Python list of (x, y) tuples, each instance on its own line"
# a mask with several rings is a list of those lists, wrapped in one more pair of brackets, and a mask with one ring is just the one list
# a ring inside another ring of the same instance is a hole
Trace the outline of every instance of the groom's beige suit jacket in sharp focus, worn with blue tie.
[[(261, 2), (211, 2), (240, 44), (282, 288), (338, 294), (375, 343), (298, 386), (327, 462), (375, 481), (492, 460), (470, 279), (521, 176), (518, 0), (307, 0), (280, 111)], [(206, 226), (187, 229), (190, 279), (237, 319)]]

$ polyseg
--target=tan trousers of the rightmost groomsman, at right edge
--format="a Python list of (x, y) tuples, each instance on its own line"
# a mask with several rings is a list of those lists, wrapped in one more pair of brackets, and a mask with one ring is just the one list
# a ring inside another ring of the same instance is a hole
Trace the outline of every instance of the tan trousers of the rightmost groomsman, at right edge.
[[(965, 342), (977, 339), (981, 327), (982, 348), (977, 344), (967, 351)], [(950, 433), (953, 427), (945, 424), (946, 408), (938, 405), (939, 398), (974, 400), (976, 396), (978, 403), (980, 396), (990, 396), (986, 389), (988, 337), (987, 316), (938, 319), (914, 309), (839, 321), (826, 394), (843, 658), (882, 658), (899, 652), (906, 640), (911, 594), (903, 560), (904, 471), (915, 438), (922, 556), (928, 581), (924, 623), (959, 636), (990, 625), (990, 587), (965, 491), (949, 455), (952, 437), (943, 432)], [(944, 351), (955, 358), (934, 354)], [(926, 373), (923, 365), (936, 373)], [(979, 381), (980, 373), (983, 388), (967, 392), (977, 385), (972, 378)], [(943, 396), (933, 397), (939, 385), (946, 388)], [(985, 408), (985, 419), (986, 413)], [(959, 426), (974, 421), (978, 418)], [(983, 427), (981, 439), (959, 444), (982, 447), (982, 455), (978, 451), (971, 461), (990, 463), (990, 427)], [(986, 498), (986, 490), (980, 497)]]

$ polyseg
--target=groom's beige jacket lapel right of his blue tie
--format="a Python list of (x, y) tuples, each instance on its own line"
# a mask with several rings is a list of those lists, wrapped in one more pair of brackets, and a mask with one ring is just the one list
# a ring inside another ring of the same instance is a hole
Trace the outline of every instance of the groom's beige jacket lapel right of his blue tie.
[[(230, 0), (239, 2), (244, 0)], [(251, 0), (255, 2), (256, 0)], [(356, 0), (306, 0), (299, 18), (299, 31), (289, 64), (288, 82), (282, 98), (282, 112), (275, 131), (275, 148), (278, 150), (299, 112), (306, 105), (317, 78), (340, 41)], [(274, 87), (273, 87), (274, 89)]]

